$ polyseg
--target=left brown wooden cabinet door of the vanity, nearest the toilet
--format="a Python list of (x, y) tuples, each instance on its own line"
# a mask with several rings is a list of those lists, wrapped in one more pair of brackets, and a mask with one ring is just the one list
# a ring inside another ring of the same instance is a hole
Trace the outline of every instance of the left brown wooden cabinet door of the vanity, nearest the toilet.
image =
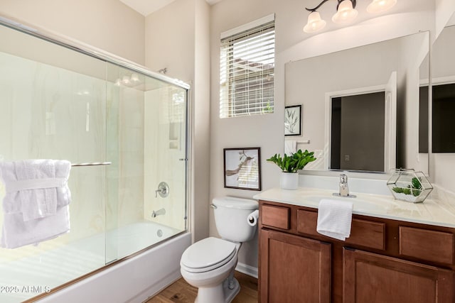
[(330, 302), (331, 244), (261, 231), (261, 302)]

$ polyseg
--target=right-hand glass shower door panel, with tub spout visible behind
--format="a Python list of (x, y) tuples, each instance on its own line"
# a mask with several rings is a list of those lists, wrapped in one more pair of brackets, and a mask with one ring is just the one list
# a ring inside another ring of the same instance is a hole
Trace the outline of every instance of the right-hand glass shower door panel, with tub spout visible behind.
[(107, 263), (186, 229), (186, 98), (107, 64)]

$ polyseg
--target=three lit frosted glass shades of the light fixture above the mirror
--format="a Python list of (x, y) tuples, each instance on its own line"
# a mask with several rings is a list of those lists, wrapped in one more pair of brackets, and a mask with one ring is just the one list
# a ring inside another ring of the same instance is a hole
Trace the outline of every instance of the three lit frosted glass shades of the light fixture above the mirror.
[[(316, 6), (314, 9), (305, 8), (311, 13), (308, 16), (308, 22), (304, 26), (305, 33), (314, 33), (316, 31), (321, 31), (321, 29), (326, 26), (326, 21), (321, 19), (321, 15), (317, 11), (323, 4), (328, 0), (323, 0), (321, 3)], [(337, 0), (336, 13), (332, 17), (334, 23), (350, 23), (357, 17), (358, 11), (355, 9), (357, 4), (356, 0)], [(373, 0), (370, 5), (368, 5), (368, 13), (382, 13), (391, 9), (392, 6), (397, 4), (397, 0)]]

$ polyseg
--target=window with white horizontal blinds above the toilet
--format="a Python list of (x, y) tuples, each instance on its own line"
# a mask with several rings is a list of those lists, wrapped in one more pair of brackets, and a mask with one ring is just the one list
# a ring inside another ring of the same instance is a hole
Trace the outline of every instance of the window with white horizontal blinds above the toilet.
[[(264, 18), (261, 20), (264, 21)], [(220, 118), (273, 113), (274, 24), (272, 16), (272, 21), (239, 33), (224, 38), (222, 34)]]

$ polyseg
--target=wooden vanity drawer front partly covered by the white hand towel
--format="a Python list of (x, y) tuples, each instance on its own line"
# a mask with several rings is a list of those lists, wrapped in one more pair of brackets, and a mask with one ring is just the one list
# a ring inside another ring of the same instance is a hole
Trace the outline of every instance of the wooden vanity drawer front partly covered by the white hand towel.
[[(297, 231), (310, 235), (319, 235), (316, 231), (318, 213), (316, 211), (297, 211)], [(350, 226), (350, 236), (346, 243), (369, 248), (385, 250), (385, 224), (374, 221), (353, 219)]]

